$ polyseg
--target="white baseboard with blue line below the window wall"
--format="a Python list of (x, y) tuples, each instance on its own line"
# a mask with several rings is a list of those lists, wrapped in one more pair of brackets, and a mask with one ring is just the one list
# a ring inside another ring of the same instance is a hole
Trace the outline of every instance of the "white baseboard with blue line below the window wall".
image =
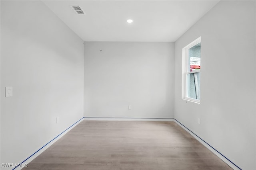
[(231, 162), (228, 158), (226, 158), (224, 155), (222, 155), (220, 152), (218, 152), (216, 149), (214, 149), (212, 146), (210, 146), (208, 143), (206, 143), (203, 139), (198, 137), (194, 132), (190, 131), (187, 127), (182, 125), (179, 121), (174, 119), (174, 122), (176, 122), (178, 125), (180, 125), (180, 127), (182, 127), (188, 133), (190, 133), (190, 135), (192, 135), (196, 140), (198, 140), (200, 143), (202, 143), (206, 148), (208, 148), (210, 151), (212, 151), (214, 154), (216, 154), (216, 156), (218, 156), (221, 160), (223, 160), (226, 164), (228, 164), (228, 166), (230, 166), (232, 169), (234, 169), (234, 170), (242, 170), (236, 164)]

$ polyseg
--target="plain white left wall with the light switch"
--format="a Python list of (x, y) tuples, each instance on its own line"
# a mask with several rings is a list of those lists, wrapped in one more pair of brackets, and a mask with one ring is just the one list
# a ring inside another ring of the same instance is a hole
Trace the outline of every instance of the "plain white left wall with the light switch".
[(1, 163), (20, 163), (83, 117), (83, 43), (41, 1), (1, 1)]

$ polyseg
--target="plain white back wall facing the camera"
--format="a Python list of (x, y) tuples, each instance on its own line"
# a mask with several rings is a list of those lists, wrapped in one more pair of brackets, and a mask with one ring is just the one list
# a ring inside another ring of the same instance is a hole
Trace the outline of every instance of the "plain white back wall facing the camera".
[(173, 118), (174, 43), (86, 42), (84, 56), (85, 117)]

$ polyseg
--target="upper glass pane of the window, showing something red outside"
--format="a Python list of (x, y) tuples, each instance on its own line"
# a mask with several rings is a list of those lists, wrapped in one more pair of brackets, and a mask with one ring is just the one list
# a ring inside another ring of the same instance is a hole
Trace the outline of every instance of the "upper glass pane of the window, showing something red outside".
[(188, 49), (189, 68), (188, 70), (200, 70), (201, 65), (201, 43), (198, 43), (194, 47)]

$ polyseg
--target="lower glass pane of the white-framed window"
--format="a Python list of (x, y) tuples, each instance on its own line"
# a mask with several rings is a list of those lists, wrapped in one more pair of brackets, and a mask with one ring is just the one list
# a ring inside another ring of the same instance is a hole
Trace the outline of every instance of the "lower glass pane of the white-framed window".
[(200, 100), (200, 72), (187, 74), (186, 97)]

